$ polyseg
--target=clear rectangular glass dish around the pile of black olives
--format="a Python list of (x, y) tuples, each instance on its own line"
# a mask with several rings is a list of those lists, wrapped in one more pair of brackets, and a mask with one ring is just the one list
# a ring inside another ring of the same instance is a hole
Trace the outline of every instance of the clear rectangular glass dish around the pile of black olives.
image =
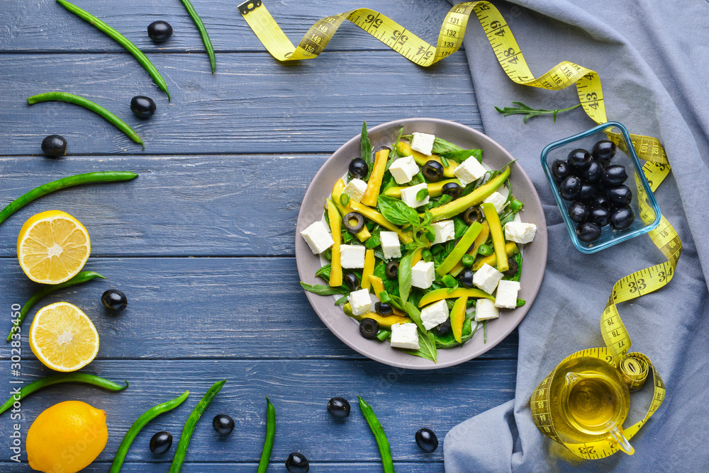
[[(559, 186), (557, 182), (554, 181), (554, 176), (552, 176), (551, 165), (556, 159), (566, 159), (569, 152), (577, 148), (587, 149), (588, 152), (591, 152), (593, 144), (596, 144), (596, 142), (602, 139), (610, 139), (605, 132), (613, 133), (613, 139), (611, 139), (611, 141), (615, 142), (618, 149), (611, 164), (625, 166), (625, 171), (628, 175), (625, 185), (632, 190), (630, 208), (635, 212), (635, 221), (632, 222), (630, 227), (624, 230), (615, 230), (613, 227), (610, 227), (610, 225), (605, 225), (605, 227), (601, 229), (601, 236), (598, 239), (591, 241), (591, 243), (586, 243), (579, 240), (579, 237), (576, 236), (576, 222), (572, 221), (569, 217), (569, 205), (571, 201), (564, 200), (559, 194)], [(542, 151), (542, 168), (544, 168), (544, 172), (549, 180), (549, 186), (552, 187), (552, 193), (554, 193), (554, 198), (557, 200), (557, 205), (559, 205), (559, 211), (562, 213), (564, 223), (566, 223), (566, 229), (569, 230), (571, 241), (581, 253), (596, 253), (596, 251), (606, 249), (608, 246), (613, 246), (621, 241), (645, 234), (657, 227), (660, 222), (660, 209), (654, 195), (652, 195), (652, 190), (647, 183), (647, 178), (645, 178), (642, 172), (642, 165), (637, 159), (635, 149), (632, 147), (630, 135), (628, 135), (626, 128), (618, 122), (603, 123), (603, 125), (598, 125), (578, 135), (548, 144), (544, 151)], [(635, 185), (633, 183), (635, 183)], [(642, 186), (642, 190), (644, 190), (644, 194), (647, 196), (646, 203), (648, 210), (644, 221), (640, 218), (640, 209), (637, 205), (639, 186)], [(649, 222), (649, 224), (645, 222)]]

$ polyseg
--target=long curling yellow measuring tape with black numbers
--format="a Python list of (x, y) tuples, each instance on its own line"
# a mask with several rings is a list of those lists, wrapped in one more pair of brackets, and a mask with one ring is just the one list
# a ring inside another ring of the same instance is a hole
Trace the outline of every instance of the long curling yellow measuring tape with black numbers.
[[(318, 57), (343, 21), (347, 20), (362, 28), (377, 40), (391, 47), (403, 57), (423, 67), (428, 67), (441, 59), (452, 55), (463, 43), (467, 23), (475, 15), (482, 26), (490, 45), (507, 76), (516, 84), (538, 87), (540, 89), (560, 90), (576, 84), (581, 106), (586, 114), (598, 124), (608, 122), (605, 115), (605, 103), (601, 78), (591, 69), (579, 66), (573, 62), (563, 61), (549, 69), (539, 77), (532, 74), (522, 51), (505, 19), (495, 6), (488, 1), (473, 1), (457, 4), (445, 16), (438, 35), (436, 46), (418, 38), (411, 31), (403, 28), (396, 21), (387, 18), (369, 8), (357, 8), (345, 13), (328, 16), (316, 21), (303, 39), (294, 46), (279, 28), (271, 14), (262, 4), (262, 0), (248, 0), (238, 6), (240, 13), (248, 25), (256, 33), (269, 53), (279, 61), (294, 61)], [(606, 132), (609, 139), (623, 149), (624, 142), (619, 134)], [(640, 159), (648, 161), (643, 166), (650, 187), (655, 190), (670, 171), (667, 156), (659, 140), (643, 135), (630, 135), (632, 146)], [(627, 150), (625, 150), (627, 151)], [(638, 176), (635, 176), (636, 180)], [(642, 186), (638, 185), (638, 203), (640, 218), (646, 224), (654, 221), (655, 215), (645, 202)], [(603, 316), (601, 317), (601, 334), (605, 348), (591, 348), (567, 357), (592, 356), (618, 368), (623, 380), (630, 389), (637, 389), (644, 384), (652, 369), (652, 363), (642, 353), (627, 353), (630, 348), (630, 336), (627, 334), (623, 321), (620, 319), (617, 302), (635, 299), (641, 295), (663, 287), (674, 275), (674, 269), (682, 251), (682, 244), (674, 228), (661, 217), (659, 226), (649, 232), (653, 243), (662, 251), (668, 261), (644, 270), (627, 275), (615, 283)], [(562, 362), (563, 364), (564, 362)], [(532, 395), (531, 408), (535, 424), (545, 435), (566, 445), (571, 452), (579, 457), (593, 459), (603, 458), (618, 451), (618, 447), (610, 440), (600, 442), (571, 444), (557, 435), (557, 430), (550, 409), (549, 383), (553, 372), (543, 380)], [(654, 414), (654, 411), (664, 399), (664, 384), (656, 370), (652, 370), (654, 379), (654, 396), (646, 416), (624, 429), (625, 437), (632, 438), (638, 429)]]

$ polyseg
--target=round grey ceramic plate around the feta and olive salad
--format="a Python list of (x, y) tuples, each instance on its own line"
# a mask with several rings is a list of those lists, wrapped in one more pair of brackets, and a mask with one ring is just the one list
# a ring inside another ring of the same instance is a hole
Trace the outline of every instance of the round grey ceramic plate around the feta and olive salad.
[[(432, 133), (465, 149), (479, 148), (483, 150), (483, 161), (493, 169), (499, 169), (513, 160), (503, 147), (481, 132), (473, 130), (459, 123), (435, 118), (408, 118), (384, 123), (369, 130), (369, 140), (372, 149), (383, 145), (390, 145), (396, 140), (399, 128), (404, 128), (404, 134), (411, 132)], [(301, 230), (309, 224), (323, 217), (325, 199), (330, 196), (330, 191), (337, 179), (347, 173), (350, 160), (359, 156), (359, 134), (345, 143), (340, 149), (325, 161), (323, 167), (316, 174), (311, 183), (303, 205), (298, 214), (296, 224), (296, 263), (298, 274), (304, 283), (324, 284), (323, 280), (315, 277), (316, 270), (320, 268), (320, 258), (313, 255), (308, 244), (301, 238)], [(482, 331), (479, 331), (464, 346), (450, 350), (438, 350), (438, 363), (430, 360), (408, 355), (391, 348), (389, 343), (372, 341), (359, 335), (359, 325), (354, 319), (347, 317), (340, 307), (336, 307), (335, 298), (319, 296), (306, 292), (313, 309), (328, 329), (343, 342), (372, 360), (386, 365), (410, 368), (413, 370), (433, 370), (448, 367), (471, 360), (485, 353), (493, 346), (500, 343), (522, 321), (532, 302), (534, 302), (539, 287), (542, 284), (544, 269), (547, 263), (547, 225), (545, 223), (542, 203), (532, 181), (518, 164), (512, 165), (510, 181), (515, 197), (525, 203), (524, 211), (520, 213), (523, 222), (537, 224), (537, 236), (532, 243), (525, 245), (524, 264), (519, 297), (526, 300), (527, 304), (514, 310), (501, 312), (500, 318), (491, 321), (487, 326), (487, 343), (483, 343)]]

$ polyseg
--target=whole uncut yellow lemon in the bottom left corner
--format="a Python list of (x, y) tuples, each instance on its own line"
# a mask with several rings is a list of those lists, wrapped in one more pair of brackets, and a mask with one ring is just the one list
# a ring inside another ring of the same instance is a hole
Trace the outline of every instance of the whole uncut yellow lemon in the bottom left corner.
[(60, 402), (30, 426), (27, 457), (40, 472), (75, 473), (96, 460), (106, 441), (106, 412), (82, 401)]

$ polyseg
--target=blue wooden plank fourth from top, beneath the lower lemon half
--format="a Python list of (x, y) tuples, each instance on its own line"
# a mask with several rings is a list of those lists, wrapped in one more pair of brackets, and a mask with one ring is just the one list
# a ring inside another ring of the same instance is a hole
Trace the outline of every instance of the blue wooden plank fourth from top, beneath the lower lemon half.
[[(94, 321), (101, 359), (364, 358), (320, 322), (298, 284), (294, 258), (91, 258), (86, 269), (109, 279), (46, 297), (24, 328), (41, 307), (66, 300)], [(16, 259), (0, 259), (0, 274), (0, 307), (24, 304), (35, 292)], [(116, 315), (101, 305), (109, 287), (128, 297), (128, 308)], [(342, 321), (354, 323), (345, 314)], [(2, 317), (3, 338), (10, 327), (10, 317)], [(484, 358), (516, 358), (517, 341), (515, 331)], [(9, 348), (0, 350), (0, 359), (9, 357)]]

